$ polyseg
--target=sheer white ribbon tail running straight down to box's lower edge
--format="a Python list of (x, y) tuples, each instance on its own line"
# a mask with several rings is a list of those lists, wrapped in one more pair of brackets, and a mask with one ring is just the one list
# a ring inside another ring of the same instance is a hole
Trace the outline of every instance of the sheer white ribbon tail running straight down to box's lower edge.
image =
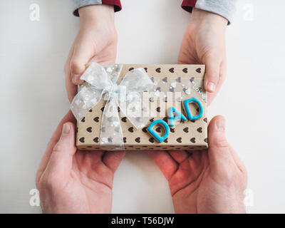
[(125, 150), (118, 105), (113, 97), (107, 101), (102, 114), (100, 146), (103, 150)]

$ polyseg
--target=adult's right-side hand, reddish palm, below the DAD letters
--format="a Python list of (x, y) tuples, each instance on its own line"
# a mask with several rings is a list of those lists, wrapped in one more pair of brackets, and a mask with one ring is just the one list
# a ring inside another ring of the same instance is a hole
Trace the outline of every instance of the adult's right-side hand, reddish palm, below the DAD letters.
[(247, 173), (225, 138), (224, 118), (208, 128), (204, 151), (148, 151), (170, 185), (177, 213), (244, 213)]

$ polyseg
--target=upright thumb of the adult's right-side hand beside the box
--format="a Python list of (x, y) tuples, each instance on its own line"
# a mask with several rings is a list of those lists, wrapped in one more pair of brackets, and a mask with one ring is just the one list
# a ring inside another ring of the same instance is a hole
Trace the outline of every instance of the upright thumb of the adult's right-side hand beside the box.
[(215, 177), (228, 180), (235, 165), (231, 154), (231, 147), (226, 139), (225, 120), (222, 116), (214, 117), (208, 127), (209, 137), (209, 165)]

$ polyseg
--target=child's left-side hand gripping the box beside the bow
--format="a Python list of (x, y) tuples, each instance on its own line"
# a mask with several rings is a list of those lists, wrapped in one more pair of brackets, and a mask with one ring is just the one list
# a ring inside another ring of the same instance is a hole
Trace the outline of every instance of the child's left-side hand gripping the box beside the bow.
[(90, 61), (115, 63), (117, 32), (114, 24), (114, 7), (109, 5), (85, 6), (78, 10), (81, 26), (71, 47), (64, 71), (69, 100), (77, 93), (77, 86)]

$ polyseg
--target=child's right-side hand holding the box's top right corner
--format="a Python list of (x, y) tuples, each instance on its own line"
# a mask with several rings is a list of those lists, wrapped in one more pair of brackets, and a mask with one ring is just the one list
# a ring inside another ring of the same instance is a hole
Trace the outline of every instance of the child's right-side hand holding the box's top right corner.
[(222, 16), (194, 8), (180, 47), (178, 63), (206, 65), (204, 88), (209, 92), (208, 105), (226, 76), (224, 36), (227, 23)]

